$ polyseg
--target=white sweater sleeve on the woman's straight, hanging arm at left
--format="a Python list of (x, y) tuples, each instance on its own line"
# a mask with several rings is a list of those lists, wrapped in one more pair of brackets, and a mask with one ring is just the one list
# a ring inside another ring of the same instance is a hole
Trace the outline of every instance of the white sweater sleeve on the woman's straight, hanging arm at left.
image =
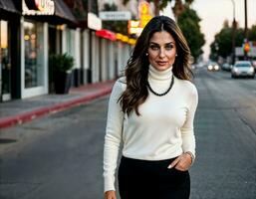
[(122, 140), (124, 113), (118, 101), (123, 93), (123, 83), (117, 81), (109, 100), (109, 110), (104, 145), (104, 189), (115, 189), (115, 173)]

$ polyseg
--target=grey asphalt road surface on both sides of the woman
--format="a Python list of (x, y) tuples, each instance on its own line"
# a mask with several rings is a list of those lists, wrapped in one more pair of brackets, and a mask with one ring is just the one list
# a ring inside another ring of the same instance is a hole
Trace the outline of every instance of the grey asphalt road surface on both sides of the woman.
[[(256, 198), (256, 79), (196, 70), (191, 199)], [(108, 98), (0, 132), (0, 199), (102, 199)]]

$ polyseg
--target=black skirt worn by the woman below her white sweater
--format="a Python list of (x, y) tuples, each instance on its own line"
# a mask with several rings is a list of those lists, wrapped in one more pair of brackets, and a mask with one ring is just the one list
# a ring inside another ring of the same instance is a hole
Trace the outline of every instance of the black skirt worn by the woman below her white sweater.
[(167, 166), (174, 160), (148, 161), (123, 156), (119, 167), (121, 199), (188, 199), (188, 171)]

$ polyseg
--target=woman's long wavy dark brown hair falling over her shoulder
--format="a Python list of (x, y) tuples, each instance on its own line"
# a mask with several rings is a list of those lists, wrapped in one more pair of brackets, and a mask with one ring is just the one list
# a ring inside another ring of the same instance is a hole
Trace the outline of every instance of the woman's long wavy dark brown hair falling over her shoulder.
[(144, 27), (142, 33), (136, 40), (133, 52), (128, 59), (125, 76), (127, 89), (119, 101), (122, 109), (128, 115), (135, 111), (137, 115), (138, 106), (148, 97), (146, 88), (149, 61), (146, 56), (149, 40), (155, 32), (166, 31), (176, 43), (177, 57), (172, 66), (173, 75), (181, 80), (191, 80), (190, 70), (191, 54), (187, 42), (177, 24), (166, 16), (153, 17)]

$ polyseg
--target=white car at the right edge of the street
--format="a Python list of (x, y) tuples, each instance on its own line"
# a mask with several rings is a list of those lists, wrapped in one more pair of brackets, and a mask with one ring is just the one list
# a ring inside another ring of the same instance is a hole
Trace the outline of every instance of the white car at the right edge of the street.
[(238, 78), (238, 77), (255, 77), (255, 72), (252, 64), (249, 61), (237, 61), (232, 67), (231, 70), (231, 77)]

